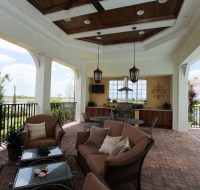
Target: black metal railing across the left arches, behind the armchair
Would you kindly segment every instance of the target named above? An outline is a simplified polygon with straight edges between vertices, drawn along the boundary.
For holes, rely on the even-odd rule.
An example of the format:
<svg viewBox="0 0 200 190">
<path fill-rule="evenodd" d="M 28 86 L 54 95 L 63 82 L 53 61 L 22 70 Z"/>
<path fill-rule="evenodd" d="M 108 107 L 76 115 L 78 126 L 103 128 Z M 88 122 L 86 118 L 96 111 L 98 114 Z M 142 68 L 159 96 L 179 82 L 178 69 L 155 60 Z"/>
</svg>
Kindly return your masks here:
<svg viewBox="0 0 200 190">
<path fill-rule="evenodd" d="M 3 142 L 7 131 L 18 130 L 24 126 L 28 117 L 36 114 L 37 103 L 0 104 L 0 142 Z M 74 121 L 76 102 L 51 103 L 51 109 L 63 108 L 67 116 L 66 122 Z"/>
</svg>

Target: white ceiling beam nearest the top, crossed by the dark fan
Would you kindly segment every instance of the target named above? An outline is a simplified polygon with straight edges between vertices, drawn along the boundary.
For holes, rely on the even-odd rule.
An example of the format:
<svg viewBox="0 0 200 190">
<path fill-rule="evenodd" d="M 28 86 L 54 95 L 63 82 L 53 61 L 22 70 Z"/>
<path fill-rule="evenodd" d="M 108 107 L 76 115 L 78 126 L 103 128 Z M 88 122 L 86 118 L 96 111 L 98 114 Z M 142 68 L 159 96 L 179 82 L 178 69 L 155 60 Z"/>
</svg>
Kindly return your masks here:
<svg viewBox="0 0 200 190">
<path fill-rule="evenodd" d="M 105 10 L 116 9 L 141 3 L 147 3 L 155 0 L 104 0 L 100 1 Z M 95 13 L 97 10 L 91 4 L 82 5 L 79 7 L 71 8 L 70 10 L 62 10 L 55 13 L 46 14 L 45 17 L 51 21 L 70 19 L 85 14 Z"/>
</svg>

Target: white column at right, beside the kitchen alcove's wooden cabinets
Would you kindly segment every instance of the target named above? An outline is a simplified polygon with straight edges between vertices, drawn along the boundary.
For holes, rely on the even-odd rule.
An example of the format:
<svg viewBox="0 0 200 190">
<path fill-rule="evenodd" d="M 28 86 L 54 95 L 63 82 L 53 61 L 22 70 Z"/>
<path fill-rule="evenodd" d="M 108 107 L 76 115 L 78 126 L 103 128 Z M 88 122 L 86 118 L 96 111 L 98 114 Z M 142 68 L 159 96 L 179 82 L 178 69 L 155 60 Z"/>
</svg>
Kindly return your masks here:
<svg viewBox="0 0 200 190">
<path fill-rule="evenodd" d="M 174 67 L 172 129 L 180 132 L 188 131 L 188 72 L 187 64 Z"/>
</svg>

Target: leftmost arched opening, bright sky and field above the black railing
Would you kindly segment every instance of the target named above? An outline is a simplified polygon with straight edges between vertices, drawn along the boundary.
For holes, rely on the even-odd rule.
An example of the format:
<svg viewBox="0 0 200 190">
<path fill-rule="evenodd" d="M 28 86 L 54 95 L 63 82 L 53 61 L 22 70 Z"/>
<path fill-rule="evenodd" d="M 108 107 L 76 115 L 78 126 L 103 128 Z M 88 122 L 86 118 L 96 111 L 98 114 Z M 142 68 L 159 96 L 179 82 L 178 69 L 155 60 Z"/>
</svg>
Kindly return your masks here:
<svg viewBox="0 0 200 190">
<path fill-rule="evenodd" d="M 0 39 L 0 71 L 8 74 L 11 81 L 5 86 L 5 103 L 35 102 L 36 68 L 30 53 L 13 43 Z"/>
</svg>

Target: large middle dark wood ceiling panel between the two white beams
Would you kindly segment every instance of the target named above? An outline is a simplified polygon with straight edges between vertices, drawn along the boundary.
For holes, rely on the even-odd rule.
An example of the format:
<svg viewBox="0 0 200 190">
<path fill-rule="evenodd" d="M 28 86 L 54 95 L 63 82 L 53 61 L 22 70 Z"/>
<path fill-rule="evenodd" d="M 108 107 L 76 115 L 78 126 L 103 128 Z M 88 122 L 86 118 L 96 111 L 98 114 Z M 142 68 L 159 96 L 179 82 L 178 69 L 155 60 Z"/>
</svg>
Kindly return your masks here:
<svg viewBox="0 0 200 190">
<path fill-rule="evenodd" d="M 156 1 L 134 5 L 129 7 L 108 10 L 102 13 L 92 13 L 78 16 L 69 22 L 56 21 L 57 26 L 62 26 L 67 34 L 92 31 L 94 28 L 105 29 L 111 27 L 139 24 L 158 20 L 167 20 L 176 18 L 177 9 L 183 0 L 171 0 L 165 4 L 158 4 Z M 137 11 L 144 10 L 144 14 L 137 15 Z M 153 11 L 152 11 L 153 10 Z M 90 24 L 84 24 L 84 20 L 89 20 Z"/>
</svg>

